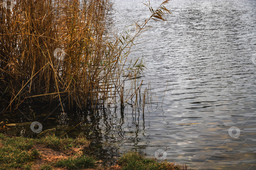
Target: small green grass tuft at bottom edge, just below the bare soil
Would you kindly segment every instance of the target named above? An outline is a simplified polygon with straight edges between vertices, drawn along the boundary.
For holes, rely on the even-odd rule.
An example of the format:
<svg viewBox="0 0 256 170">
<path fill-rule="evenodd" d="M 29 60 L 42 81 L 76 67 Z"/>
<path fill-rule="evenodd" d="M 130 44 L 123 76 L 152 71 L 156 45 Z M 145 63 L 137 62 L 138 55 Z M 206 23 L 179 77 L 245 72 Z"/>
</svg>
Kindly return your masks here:
<svg viewBox="0 0 256 170">
<path fill-rule="evenodd" d="M 95 160 L 91 156 L 81 156 L 79 158 L 68 158 L 65 160 L 58 161 L 55 166 L 56 167 L 66 167 L 68 169 L 75 168 L 88 168 L 95 167 Z"/>
</svg>

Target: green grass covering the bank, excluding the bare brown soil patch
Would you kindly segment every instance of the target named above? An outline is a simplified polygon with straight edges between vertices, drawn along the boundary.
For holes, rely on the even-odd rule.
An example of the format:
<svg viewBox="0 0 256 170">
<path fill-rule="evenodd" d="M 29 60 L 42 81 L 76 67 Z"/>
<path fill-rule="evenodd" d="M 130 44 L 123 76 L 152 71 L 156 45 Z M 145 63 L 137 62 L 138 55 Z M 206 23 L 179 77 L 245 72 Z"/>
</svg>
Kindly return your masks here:
<svg viewBox="0 0 256 170">
<path fill-rule="evenodd" d="M 45 165 L 40 167 L 41 170 L 52 170 L 54 167 L 63 167 L 67 169 L 95 167 L 97 169 L 96 160 L 92 156 L 80 155 L 76 157 L 76 152 L 74 150 L 70 149 L 69 151 L 64 151 L 69 147 L 81 147 L 88 145 L 89 141 L 85 138 L 62 139 L 48 136 L 40 139 L 26 139 L 22 137 L 11 138 L 0 133 L 0 170 L 33 169 L 33 164 L 35 163 L 34 160 L 40 155 L 40 152 L 34 149 L 34 144 L 46 145 L 53 148 L 53 150 L 60 150 L 68 153 L 66 158 L 51 162 L 52 166 L 49 165 L 50 162 L 46 162 Z M 128 152 L 123 155 L 119 158 L 117 164 L 122 167 L 122 170 L 187 169 L 186 166 L 175 165 L 174 163 L 167 161 L 157 162 L 154 159 L 145 159 L 136 152 Z M 107 167 L 105 169 L 107 169 Z"/>
</svg>

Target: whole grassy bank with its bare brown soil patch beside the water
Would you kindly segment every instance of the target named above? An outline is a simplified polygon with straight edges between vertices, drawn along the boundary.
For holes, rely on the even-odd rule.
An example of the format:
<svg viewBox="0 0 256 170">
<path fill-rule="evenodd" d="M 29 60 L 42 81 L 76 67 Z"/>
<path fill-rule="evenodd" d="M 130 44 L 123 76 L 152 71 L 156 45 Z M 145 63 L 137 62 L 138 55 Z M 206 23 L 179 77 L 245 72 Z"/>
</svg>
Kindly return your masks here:
<svg viewBox="0 0 256 170">
<path fill-rule="evenodd" d="M 70 139 L 43 137 L 29 139 L 0 134 L 0 169 L 187 169 L 167 161 L 145 159 L 136 152 L 128 152 L 116 165 L 108 167 L 101 160 L 85 154 L 89 141 L 84 138 Z"/>
</svg>

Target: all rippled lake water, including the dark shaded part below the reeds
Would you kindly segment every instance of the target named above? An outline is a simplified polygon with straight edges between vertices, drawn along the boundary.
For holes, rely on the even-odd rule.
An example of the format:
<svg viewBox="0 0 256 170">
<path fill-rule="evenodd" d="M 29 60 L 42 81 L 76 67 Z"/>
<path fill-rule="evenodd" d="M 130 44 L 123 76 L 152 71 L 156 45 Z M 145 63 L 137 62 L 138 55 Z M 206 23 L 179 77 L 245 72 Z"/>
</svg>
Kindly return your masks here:
<svg viewBox="0 0 256 170">
<path fill-rule="evenodd" d="M 142 0 L 111 2 L 111 30 L 151 14 Z M 150 2 L 153 9 L 160 3 Z M 8 119 L 82 133 L 92 146 L 103 146 L 94 153 L 107 161 L 128 150 L 152 158 L 165 150 L 160 158 L 192 169 L 256 169 L 256 1 L 173 0 L 165 6 L 172 12 L 168 22 L 149 21 L 152 28 L 129 56 L 145 56 L 147 70 L 138 81 L 144 80 L 142 89 L 150 81 L 152 99 L 144 114 L 128 101 L 124 110 L 64 110 L 61 116 L 61 107 L 29 106 Z M 9 134 L 27 132 L 29 126 L 17 126 Z"/>
</svg>

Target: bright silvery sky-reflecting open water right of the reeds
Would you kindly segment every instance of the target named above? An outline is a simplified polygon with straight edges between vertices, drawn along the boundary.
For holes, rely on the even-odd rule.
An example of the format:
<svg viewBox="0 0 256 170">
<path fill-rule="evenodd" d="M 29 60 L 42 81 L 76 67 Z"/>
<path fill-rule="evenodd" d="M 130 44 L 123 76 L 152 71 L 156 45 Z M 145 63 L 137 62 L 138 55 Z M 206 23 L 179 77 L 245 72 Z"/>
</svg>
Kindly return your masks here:
<svg viewBox="0 0 256 170">
<path fill-rule="evenodd" d="M 113 2 L 110 20 L 119 28 L 125 18 L 131 23 L 150 15 L 139 1 Z M 152 1 L 153 8 L 159 2 Z M 150 156 L 170 146 L 167 159 L 191 168 L 248 169 L 256 152 L 255 2 L 174 0 L 166 7 L 173 12 L 168 23 L 149 22 L 153 28 L 139 40 L 145 43 L 130 55 L 147 57 L 143 80 L 153 93 L 144 130 L 125 122 L 129 131 L 141 133 L 136 146 L 148 146 Z M 131 115 L 131 109 L 125 112 Z M 241 130 L 239 140 L 229 136 L 232 126 Z"/>
</svg>

